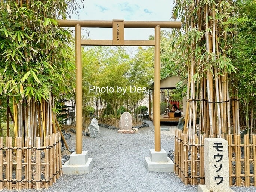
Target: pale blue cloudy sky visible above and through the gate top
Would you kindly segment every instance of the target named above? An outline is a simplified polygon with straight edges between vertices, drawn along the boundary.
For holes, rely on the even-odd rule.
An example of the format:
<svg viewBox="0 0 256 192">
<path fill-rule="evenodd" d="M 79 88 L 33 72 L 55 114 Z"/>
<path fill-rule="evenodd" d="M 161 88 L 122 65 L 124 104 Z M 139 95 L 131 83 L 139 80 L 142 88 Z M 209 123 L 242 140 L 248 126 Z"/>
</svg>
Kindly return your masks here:
<svg viewBox="0 0 256 192">
<path fill-rule="evenodd" d="M 173 0 L 84 0 L 83 4 L 80 20 L 171 21 L 173 8 Z M 78 16 L 72 15 L 70 19 Z M 90 39 L 112 40 L 112 28 L 83 30 L 89 31 Z M 154 35 L 154 29 L 126 28 L 124 40 L 148 40 L 149 35 Z"/>
</svg>

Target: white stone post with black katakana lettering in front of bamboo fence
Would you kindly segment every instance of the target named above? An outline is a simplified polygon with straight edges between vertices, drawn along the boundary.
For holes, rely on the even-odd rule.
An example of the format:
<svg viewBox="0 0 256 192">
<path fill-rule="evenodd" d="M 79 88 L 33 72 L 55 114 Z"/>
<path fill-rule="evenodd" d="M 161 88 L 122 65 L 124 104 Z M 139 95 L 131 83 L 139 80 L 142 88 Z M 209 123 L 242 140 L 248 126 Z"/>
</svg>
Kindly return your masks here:
<svg viewBox="0 0 256 192">
<path fill-rule="evenodd" d="M 205 185 L 198 192 L 229 192 L 228 142 L 222 138 L 204 139 Z"/>
</svg>

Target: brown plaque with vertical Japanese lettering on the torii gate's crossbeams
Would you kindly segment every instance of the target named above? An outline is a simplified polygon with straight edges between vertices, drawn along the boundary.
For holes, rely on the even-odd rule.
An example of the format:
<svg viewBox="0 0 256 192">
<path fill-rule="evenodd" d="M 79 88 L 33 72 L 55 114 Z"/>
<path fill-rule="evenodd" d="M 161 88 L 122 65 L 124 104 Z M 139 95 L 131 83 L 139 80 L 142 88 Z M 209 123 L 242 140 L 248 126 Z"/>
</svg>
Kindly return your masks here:
<svg viewBox="0 0 256 192">
<path fill-rule="evenodd" d="M 124 20 L 113 20 L 113 45 L 124 45 Z"/>
</svg>

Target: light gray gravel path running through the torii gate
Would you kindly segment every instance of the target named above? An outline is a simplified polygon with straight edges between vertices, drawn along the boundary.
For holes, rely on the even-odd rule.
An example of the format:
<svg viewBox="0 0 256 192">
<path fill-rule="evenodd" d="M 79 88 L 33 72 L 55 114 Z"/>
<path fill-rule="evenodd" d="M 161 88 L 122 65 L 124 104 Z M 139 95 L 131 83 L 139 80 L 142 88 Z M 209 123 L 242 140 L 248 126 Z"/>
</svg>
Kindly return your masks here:
<svg viewBox="0 0 256 192">
<path fill-rule="evenodd" d="M 185 186 L 174 173 L 148 172 L 144 157 L 154 149 L 154 126 L 139 129 L 136 134 L 118 134 L 117 130 L 100 128 L 100 138 L 83 136 L 83 151 L 93 158 L 89 174 L 64 175 L 47 192 L 197 192 L 197 186 Z M 177 124 L 161 124 L 170 131 L 161 131 L 161 148 L 168 153 L 174 149 L 174 130 Z M 75 134 L 67 140 L 75 149 Z M 256 192 L 255 187 L 232 187 L 236 192 Z M 3 190 L 7 191 L 7 190 Z M 12 190 L 15 191 L 15 190 Z M 27 190 L 21 190 L 27 191 Z M 37 190 L 30 190 L 37 191 Z"/>
</svg>

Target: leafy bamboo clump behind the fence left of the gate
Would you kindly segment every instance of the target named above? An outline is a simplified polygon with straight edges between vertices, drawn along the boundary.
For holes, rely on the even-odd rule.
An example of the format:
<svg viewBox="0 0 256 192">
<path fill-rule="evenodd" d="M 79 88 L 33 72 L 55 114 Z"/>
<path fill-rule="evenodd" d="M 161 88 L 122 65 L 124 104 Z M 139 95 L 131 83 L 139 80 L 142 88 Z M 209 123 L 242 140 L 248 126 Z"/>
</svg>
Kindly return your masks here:
<svg viewBox="0 0 256 192">
<path fill-rule="evenodd" d="M 13 103 L 7 118 L 13 116 L 15 137 L 43 143 L 57 131 L 55 101 L 72 97 L 75 87 L 72 31 L 55 27 L 55 19 L 66 19 L 79 4 L 8 0 L 0 6 L 1 100 L 9 109 Z"/>
</svg>

